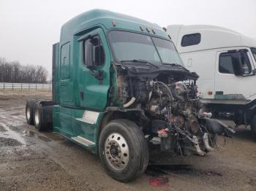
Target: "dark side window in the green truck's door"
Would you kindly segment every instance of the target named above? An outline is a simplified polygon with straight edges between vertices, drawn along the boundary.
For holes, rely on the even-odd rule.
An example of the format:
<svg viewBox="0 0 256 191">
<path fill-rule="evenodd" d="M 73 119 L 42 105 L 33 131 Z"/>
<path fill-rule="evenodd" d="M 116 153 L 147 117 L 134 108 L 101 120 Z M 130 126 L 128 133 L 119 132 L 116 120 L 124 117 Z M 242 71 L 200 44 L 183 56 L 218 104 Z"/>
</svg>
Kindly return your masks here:
<svg viewBox="0 0 256 191">
<path fill-rule="evenodd" d="M 94 66 L 102 66 L 105 63 L 105 52 L 99 36 L 93 36 L 83 42 L 83 63 L 86 64 L 86 52 L 92 45 L 92 62 Z"/>
</svg>

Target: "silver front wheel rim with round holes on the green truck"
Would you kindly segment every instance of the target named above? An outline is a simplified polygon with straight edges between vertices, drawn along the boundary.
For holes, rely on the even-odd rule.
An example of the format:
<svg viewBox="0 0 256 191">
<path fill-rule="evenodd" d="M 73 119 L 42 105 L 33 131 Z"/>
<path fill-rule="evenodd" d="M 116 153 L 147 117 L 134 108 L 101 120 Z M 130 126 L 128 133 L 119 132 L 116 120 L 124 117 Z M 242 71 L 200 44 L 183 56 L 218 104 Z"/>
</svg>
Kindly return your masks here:
<svg viewBox="0 0 256 191">
<path fill-rule="evenodd" d="M 119 133 L 110 133 L 105 141 L 105 156 L 108 163 L 116 170 L 123 170 L 129 162 L 127 141 Z"/>
</svg>

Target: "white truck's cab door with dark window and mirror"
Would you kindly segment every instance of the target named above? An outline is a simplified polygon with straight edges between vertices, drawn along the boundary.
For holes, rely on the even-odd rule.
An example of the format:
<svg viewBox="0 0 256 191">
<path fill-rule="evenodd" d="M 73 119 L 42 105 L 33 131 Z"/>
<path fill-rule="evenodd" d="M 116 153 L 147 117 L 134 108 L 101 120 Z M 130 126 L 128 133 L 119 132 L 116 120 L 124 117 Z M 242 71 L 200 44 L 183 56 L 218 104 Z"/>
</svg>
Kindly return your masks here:
<svg viewBox="0 0 256 191">
<path fill-rule="evenodd" d="M 217 52 L 216 61 L 214 98 L 243 100 L 256 93 L 255 67 L 248 50 Z"/>
</svg>

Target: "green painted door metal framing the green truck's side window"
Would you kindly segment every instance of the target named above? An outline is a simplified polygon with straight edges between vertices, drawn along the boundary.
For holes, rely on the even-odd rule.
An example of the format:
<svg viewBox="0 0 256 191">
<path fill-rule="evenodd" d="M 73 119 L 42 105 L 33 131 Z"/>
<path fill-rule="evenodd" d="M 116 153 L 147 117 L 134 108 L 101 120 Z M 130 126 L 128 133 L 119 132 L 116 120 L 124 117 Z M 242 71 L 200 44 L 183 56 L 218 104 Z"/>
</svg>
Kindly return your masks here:
<svg viewBox="0 0 256 191">
<path fill-rule="evenodd" d="M 100 37 L 105 52 L 105 63 L 102 66 L 94 67 L 94 71 L 103 71 L 103 79 L 96 79 L 86 67 L 83 61 L 83 53 L 81 53 L 78 66 L 78 88 L 79 93 L 83 93 L 83 98 L 80 97 L 80 106 L 86 109 L 103 111 L 108 104 L 108 90 L 110 87 L 110 49 L 102 28 L 96 28 L 84 35 Z M 83 52 L 83 42 L 79 42 L 78 45 L 80 46 L 79 52 Z"/>
</svg>

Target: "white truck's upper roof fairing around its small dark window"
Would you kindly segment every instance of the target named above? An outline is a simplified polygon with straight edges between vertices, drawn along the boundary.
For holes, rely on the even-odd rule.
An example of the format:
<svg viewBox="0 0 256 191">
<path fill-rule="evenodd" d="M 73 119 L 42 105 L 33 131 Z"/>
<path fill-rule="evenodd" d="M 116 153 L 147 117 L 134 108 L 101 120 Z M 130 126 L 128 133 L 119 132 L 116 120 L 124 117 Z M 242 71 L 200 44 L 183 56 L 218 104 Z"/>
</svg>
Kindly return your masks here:
<svg viewBox="0 0 256 191">
<path fill-rule="evenodd" d="M 201 42 L 196 45 L 181 47 L 182 36 L 195 33 L 201 34 Z M 219 26 L 167 26 L 167 34 L 170 34 L 180 53 L 221 47 L 256 47 L 256 39 Z"/>
</svg>

